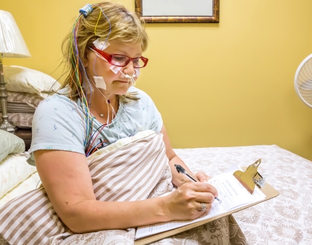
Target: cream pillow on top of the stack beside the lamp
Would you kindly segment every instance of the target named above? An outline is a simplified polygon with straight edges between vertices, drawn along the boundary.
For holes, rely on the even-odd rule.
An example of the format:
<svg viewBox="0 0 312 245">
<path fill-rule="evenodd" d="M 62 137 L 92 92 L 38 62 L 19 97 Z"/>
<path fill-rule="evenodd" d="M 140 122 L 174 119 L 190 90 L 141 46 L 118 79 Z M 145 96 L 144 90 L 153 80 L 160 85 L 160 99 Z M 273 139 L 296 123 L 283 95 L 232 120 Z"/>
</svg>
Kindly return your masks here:
<svg viewBox="0 0 312 245">
<path fill-rule="evenodd" d="M 3 66 L 3 73 L 8 91 L 42 95 L 42 92 L 49 92 L 51 88 L 56 90 L 60 86 L 52 76 L 18 65 Z"/>
</svg>

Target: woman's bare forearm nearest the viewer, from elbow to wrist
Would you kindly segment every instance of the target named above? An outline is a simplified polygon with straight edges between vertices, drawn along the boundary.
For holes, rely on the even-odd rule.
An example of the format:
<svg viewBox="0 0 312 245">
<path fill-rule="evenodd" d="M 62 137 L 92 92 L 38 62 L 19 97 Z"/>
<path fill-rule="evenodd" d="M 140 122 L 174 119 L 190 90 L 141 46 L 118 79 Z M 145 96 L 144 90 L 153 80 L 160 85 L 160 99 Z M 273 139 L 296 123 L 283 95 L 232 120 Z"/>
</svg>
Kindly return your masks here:
<svg viewBox="0 0 312 245">
<path fill-rule="evenodd" d="M 164 197 L 140 201 L 103 202 L 84 200 L 67 208 L 63 222 L 75 233 L 107 229 L 125 229 L 169 221 Z M 70 205 L 70 202 L 67 203 Z"/>
</svg>

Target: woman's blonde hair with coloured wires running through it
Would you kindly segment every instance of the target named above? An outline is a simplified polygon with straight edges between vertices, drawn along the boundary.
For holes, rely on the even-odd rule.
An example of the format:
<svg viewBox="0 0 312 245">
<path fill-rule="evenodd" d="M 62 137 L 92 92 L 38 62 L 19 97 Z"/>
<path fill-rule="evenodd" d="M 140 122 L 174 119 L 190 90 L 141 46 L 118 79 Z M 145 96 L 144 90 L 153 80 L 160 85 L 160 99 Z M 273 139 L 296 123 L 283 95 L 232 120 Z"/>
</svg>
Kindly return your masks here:
<svg viewBox="0 0 312 245">
<path fill-rule="evenodd" d="M 68 74 L 61 88 L 70 86 L 70 97 L 75 100 L 82 97 L 80 94 L 82 90 L 79 87 L 85 88 L 89 85 L 83 84 L 87 79 L 83 63 L 86 60 L 88 48 L 93 46 L 93 41 L 100 38 L 107 41 L 117 39 L 131 44 L 141 42 L 142 51 L 146 50 L 148 44 L 144 20 L 136 13 L 113 1 L 95 3 L 92 4 L 92 8 L 93 11 L 86 17 L 79 15 L 73 31 L 65 37 L 62 43 Z M 139 99 L 135 93 L 129 92 L 118 97 L 123 102 Z"/>
</svg>

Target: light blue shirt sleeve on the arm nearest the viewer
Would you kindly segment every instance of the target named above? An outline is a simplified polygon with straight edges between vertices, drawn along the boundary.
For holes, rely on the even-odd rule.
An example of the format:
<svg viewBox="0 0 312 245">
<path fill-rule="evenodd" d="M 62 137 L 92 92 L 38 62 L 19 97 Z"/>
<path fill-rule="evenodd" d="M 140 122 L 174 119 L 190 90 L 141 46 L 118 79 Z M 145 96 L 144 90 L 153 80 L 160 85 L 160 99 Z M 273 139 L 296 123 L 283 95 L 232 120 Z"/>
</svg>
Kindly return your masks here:
<svg viewBox="0 0 312 245">
<path fill-rule="evenodd" d="M 34 165 L 33 151 L 54 149 L 84 154 L 84 118 L 77 104 L 52 96 L 43 100 L 33 116 L 28 163 Z"/>
</svg>

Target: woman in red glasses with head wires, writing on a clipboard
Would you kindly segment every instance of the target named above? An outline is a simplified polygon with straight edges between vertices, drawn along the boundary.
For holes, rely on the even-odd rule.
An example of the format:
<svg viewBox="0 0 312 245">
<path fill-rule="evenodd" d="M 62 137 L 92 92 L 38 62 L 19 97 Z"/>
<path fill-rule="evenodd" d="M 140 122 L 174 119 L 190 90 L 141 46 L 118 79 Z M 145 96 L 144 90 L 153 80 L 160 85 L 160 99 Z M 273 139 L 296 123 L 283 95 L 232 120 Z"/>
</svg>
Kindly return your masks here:
<svg viewBox="0 0 312 245">
<path fill-rule="evenodd" d="M 57 216 L 70 229 L 62 230 L 68 232 L 63 233 L 63 238 L 73 233 L 194 219 L 209 210 L 218 196 L 215 187 L 205 182 L 209 178 L 205 173 L 196 173 L 199 182 L 189 182 L 178 173 L 175 164 L 191 171 L 173 151 L 152 99 L 133 87 L 140 68 L 148 62 L 142 56 L 147 42 L 142 20 L 110 1 L 80 9 L 72 33 L 64 42 L 67 78 L 62 89 L 36 109 L 28 159 L 36 165 Z M 167 174 L 164 192 L 172 190 L 172 183 L 177 190 L 155 198 L 99 200 L 88 159 L 101 148 L 145 130 L 162 136 L 159 151 L 163 147 L 169 159 L 163 163 L 157 181 Z M 146 172 L 149 178 L 156 174 L 153 167 L 157 165 L 151 165 Z M 151 195 L 152 188 L 147 191 L 147 197 L 157 196 Z M 224 229 L 222 236 L 228 235 L 228 227 Z"/>
</svg>

